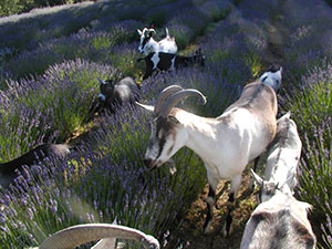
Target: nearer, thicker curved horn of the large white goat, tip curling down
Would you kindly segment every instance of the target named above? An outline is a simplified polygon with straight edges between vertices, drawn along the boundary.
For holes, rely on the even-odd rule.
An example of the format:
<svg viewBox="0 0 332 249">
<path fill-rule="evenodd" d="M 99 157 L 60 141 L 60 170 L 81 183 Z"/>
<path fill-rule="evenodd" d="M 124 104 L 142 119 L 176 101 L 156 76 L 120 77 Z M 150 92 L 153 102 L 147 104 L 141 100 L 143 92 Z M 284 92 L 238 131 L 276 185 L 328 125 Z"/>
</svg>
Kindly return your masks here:
<svg viewBox="0 0 332 249">
<path fill-rule="evenodd" d="M 181 91 L 176 92 L 173 95 L 170 95 L 167 98 L 167 101 L 163 104 L 159 115 L 166 117 L 169 114 L 170 110 L 178 102 L 180 102 L 183 98 L 185 98 L 187 96 L 198 96 L 203 100 L 203 102 L 204 102 L 203 104 L 206 104 L 206 97 L 199 91 L 197 91 L 195 89 L 186 89 L 186 90 L 181 90 Z"/>
</svg>

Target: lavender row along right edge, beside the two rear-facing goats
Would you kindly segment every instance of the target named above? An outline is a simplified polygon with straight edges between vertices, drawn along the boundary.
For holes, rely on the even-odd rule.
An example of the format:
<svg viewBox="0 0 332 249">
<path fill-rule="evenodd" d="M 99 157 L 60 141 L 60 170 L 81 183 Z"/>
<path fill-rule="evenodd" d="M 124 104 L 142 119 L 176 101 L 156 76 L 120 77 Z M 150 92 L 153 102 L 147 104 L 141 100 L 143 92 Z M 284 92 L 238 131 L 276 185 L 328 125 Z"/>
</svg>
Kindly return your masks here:
<svg viewBox="0 0 332 249">
<path fill-rule="evenodd" d="M 295 90 L 290 91 L 281 100 L 282 107 L 291 111 L 302 138 L 303 152 L 298 195 L 314 207 L 313 220 L 322 228 L 318 234 L 321 248 L 332 246 L 331 235 L 329 235 L 331 230 L 329 220 L 332 217 L 331 71 L 331 62 L 326 61 L 324 66 L 310 70 L 305 76 L 302 76 L 300 86 L 295 86 Z"/>
</svg>

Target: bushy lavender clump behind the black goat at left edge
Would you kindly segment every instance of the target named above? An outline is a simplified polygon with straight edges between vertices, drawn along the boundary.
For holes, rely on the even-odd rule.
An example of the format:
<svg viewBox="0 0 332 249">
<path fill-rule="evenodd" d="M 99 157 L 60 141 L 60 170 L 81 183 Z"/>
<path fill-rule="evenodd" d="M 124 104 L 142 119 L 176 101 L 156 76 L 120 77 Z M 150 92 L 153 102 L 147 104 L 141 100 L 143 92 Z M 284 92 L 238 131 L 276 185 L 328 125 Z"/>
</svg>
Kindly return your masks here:
<svg viewBox="0 0 332 249">
<path fill-rule="evenodd" d="M 1 92 L 2 160 L 41 142 L 69 138 L 92 116 L 96 79 L 117 76 L 112 66 L 76 60 L 51 66 L 41 77 L 11 82 L 10 89 Z"/>
</svg>

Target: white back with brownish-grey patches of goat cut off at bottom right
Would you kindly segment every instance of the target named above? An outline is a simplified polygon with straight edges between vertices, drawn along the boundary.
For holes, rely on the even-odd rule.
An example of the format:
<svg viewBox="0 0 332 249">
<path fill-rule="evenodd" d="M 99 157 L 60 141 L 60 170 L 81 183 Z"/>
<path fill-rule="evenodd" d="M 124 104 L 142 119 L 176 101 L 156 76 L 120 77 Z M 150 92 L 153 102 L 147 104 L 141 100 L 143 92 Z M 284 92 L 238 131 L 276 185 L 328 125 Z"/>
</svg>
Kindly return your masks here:
<svg viewBox="0 0 332 249">
<path fill-rule="evenodd" d="M 309 204 L 277 190 L 251 214 L 240 248 L 315 248 L 317 239 L 307 217 L 310 208 Z"/>
</svg>

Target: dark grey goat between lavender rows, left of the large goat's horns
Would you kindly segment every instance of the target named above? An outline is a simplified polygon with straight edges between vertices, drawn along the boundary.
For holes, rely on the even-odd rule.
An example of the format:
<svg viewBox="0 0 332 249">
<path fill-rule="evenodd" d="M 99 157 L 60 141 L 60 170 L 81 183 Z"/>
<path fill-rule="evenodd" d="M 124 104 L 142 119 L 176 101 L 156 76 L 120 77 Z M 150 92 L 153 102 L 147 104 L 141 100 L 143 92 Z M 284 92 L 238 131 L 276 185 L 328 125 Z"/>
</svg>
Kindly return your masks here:
<svg viewBox="0 0 332 249">
<path fill-rule="evenodd" d="M 141 86 L 133 77 L 124 77 L 117 83 L 111 80 L 98 81 L 101 91 L 98 94 L 98 103 L 111 113 L 115 113 L 115 110 L 124 103 L 134 104 L 139 98 Z"/>
</svg>

